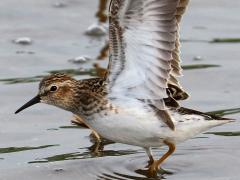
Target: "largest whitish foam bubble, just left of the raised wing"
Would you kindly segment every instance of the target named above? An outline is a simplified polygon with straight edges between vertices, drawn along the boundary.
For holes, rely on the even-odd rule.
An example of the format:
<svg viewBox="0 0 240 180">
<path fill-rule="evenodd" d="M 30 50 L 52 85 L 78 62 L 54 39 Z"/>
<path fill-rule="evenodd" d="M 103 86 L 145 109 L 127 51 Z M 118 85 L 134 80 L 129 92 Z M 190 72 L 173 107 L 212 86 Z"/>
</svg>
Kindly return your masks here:
<svg viewBox="0 0 240 180">
<path fill-rule="evenodd" d="M 89 36 L 104 36 L 107 34 L 107 27 L 103 23 L 95 23 L 88 27 L 86 34 Z"/>
</svg>

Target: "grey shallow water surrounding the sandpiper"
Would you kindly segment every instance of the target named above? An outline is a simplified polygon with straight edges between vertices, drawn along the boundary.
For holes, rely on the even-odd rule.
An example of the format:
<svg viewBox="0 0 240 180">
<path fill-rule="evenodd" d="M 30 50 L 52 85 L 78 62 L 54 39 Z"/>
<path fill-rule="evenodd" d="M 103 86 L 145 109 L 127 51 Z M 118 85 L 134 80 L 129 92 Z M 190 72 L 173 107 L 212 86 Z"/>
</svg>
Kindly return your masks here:
<svg viewBox="0 0 240 180">
<path fill-rule="evenodd" d="M 43 76 L 60 71 L 88 78 L 104 73 L 107 65 L 107 60 L 79 65 L 68 61 L 81 55 L 94 59 L 104 47 L 105 37 L 84 34 L 96 21 L 95 1 L 17 3 L 0 3 L 0 179 L 150 179 L 141 148 L 96 144 L 89 130 L 71 125 L 71 113 L 40 104 L 13 114 L 35 95 Z M 191 2 L 181 32 L 182 85 L 191 94 L 184 106 L 239 119 L 239 5 L 234 0 Z M 30 37 L 32 43 L 13 43 L 18 37 Z M 201 60 L 195 61 L 196 56 Z M 163 164 L 172 174 L 156 179 L 239 179 L 239 127 L 236 121 L 179 144 Z M 154 149 L 154 155 L 165 151 Z"/>
</svg>

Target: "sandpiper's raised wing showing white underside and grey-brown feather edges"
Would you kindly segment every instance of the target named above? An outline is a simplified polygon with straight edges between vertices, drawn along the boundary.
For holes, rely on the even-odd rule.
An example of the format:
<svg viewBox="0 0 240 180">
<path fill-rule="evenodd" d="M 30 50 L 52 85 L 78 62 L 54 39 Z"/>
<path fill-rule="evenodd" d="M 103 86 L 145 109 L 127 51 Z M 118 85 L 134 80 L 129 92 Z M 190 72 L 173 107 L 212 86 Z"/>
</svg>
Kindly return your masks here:
<svg viewBox="0 0 240 180">
<path fill-rule="evenodd" d="M 143 99 L 164 109 L 168 83 L 180 87 L 178 23 L 187 2 L 111 1 L 110 95 Z"/>
</svg>

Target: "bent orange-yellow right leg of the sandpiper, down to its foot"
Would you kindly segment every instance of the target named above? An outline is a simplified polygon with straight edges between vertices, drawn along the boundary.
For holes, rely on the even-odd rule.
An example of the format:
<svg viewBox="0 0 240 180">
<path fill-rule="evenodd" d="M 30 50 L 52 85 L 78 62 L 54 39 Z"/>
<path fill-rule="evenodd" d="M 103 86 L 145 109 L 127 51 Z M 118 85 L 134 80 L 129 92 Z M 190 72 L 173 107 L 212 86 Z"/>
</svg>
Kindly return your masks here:
<svg viewBox="0 0 240 180">
<path fill-rule="evenodd" d="M 157 175 L 157 171 L 160 168 L 160 165 L 170 156 L 174 153 L 176 147 L 175 144 L 164 141 L 164 144 L 168 146 L 168 152 L 166 152 L 158 161 L 154 161 L 152 165 L 148 169 L 149 176 L 154 177 Z"/>
</svg>

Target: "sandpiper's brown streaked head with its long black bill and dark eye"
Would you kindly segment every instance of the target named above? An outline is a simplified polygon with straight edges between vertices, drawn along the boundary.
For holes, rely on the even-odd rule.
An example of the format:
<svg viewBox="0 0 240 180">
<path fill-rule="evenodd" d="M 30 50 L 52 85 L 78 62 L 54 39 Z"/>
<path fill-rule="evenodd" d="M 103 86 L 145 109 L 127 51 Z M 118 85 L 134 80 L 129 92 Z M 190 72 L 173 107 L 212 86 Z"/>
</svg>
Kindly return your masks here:
<svg viewBox="0 0 240 180">
<path fill-rule="evenodd" d="M 19 108 L 15 113 L 37 103 L 46 103 L 68 111 L 74 111 L 74 97 L 78 81 L 65 74 L 54 74 L 43 78 L 38 94 Z"/>
</svg>

